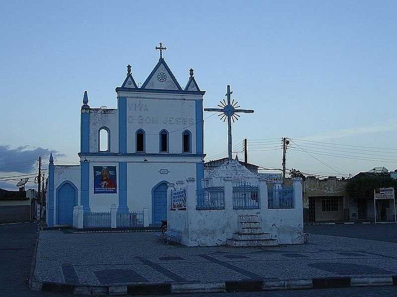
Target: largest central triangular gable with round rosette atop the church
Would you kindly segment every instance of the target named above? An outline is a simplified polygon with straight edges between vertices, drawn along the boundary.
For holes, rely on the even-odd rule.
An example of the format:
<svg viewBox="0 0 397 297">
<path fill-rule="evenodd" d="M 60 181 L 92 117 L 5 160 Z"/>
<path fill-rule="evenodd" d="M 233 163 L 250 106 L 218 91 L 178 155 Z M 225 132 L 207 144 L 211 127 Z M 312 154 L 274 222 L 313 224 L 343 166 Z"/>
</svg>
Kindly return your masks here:
<svg viewBox="0 0 397 297">
<path fill-rule="evenodd" d="M 141 89 L 182 91 L 181 86 L 163 58 L 158 60 L 157 65 L 149 74 Z"/>
</svg>

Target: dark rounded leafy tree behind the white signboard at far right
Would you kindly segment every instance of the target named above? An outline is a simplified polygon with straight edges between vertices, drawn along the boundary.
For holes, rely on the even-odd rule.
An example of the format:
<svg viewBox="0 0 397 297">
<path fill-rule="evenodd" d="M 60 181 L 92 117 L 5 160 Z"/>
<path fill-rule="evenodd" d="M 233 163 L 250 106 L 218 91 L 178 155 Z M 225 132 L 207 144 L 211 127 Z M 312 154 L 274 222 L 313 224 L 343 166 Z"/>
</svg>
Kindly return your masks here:
<svg viewBox="0 0 397 297">
<path fill-rule="evenodd" d="M 375 188 L 397 188 L 397 180 L 389 173 L 362 172 L 351 178 L 346 185 L 346 194 L 355 198 L 373 198 Z"/>
</svg>

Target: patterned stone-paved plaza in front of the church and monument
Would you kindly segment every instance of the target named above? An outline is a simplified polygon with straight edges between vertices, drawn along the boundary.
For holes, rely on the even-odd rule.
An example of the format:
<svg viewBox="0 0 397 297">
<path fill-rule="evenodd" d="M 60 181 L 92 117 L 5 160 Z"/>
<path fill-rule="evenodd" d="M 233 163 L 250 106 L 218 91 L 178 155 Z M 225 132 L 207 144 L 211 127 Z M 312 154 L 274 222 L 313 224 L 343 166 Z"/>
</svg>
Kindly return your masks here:
<svg viewBox="0 0 397 297">
<path fill-rule="evenodd" d="M 158 233 L 42 231 L 35 274 L 73 285 L 397 274 L 397 244 L 313 234 L 306 245 L 185 247 Z"/>
</svg>

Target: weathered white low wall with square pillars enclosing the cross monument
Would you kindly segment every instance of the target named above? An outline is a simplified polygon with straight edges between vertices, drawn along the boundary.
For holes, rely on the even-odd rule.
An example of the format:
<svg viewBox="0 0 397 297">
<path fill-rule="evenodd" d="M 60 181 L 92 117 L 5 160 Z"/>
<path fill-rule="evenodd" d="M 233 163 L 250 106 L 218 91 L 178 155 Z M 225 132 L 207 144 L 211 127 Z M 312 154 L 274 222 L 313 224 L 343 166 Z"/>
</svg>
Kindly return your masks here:
<svg viewBox="0 0 397 297">
<path fill-rule="evenodd" d="M 238 231 L 238 216 L 257 214 L 263 232 L 277 238 L 279 244 L 303 243 L 302 184 L 294 183 L 294 209 L 267 209 L 265 181 L 259 185 L 260 209 L 233 209 L 231 179 L 225 180 L 225 209 L 196 210 L 195 193 L 188 191 L 187 210 L 171 211 L 168 207 L 168 228 L 180 232 L 181 243 L 187 246 L 225 245 Z M 169 197 L 170 199 L 170 197 Z M 170 201 L 169 201 L 170 203 Z"/>
</svg>

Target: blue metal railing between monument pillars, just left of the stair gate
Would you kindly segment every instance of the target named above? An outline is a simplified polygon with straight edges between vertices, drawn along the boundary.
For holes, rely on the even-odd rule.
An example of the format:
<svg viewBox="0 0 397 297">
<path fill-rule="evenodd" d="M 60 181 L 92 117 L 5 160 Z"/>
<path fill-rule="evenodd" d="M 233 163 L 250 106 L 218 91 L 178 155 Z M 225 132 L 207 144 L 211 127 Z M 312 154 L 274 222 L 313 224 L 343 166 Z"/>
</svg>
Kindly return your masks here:
<svg viewBox="0 0 397 297">
<path fill-rule="evenodd" d="M 196 191 L 196 210 L 225 209 L 224 187 L 209 187 Z"/>
</svg>

